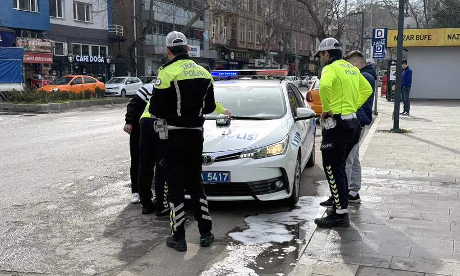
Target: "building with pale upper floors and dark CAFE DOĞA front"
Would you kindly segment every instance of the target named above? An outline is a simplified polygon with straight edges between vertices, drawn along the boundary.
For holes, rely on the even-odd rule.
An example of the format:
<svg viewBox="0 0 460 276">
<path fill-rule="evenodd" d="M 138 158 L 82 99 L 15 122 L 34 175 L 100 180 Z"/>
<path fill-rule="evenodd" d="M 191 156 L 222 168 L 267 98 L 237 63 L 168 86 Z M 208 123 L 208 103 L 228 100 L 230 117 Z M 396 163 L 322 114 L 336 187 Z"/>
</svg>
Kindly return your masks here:
<svg viewBox="0 0 460 276">
<path fill-rule="evenodd" d="M 111 0 L 49 0 L 49 5 L 54 77 L 91 75 L 106 82 L 127 74 L 126 60 L 113 49 L 125 38 L 123 26 L 112 22 Z"/>
</svg>

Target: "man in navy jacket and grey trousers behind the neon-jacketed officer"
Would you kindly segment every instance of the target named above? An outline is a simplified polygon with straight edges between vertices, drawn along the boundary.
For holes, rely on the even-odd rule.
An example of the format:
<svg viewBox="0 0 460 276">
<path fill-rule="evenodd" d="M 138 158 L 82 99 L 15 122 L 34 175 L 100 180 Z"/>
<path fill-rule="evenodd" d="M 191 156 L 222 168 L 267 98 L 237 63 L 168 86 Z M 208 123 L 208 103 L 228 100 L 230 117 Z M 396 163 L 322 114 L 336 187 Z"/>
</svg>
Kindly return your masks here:
<svg viewBox="0 0 460 276">
<path fill-rule="evenodd" d="M 359 197 L 359 190 L 361 190 L 361 162 L 359 161 L 359 142 L 365 132 L 365 127 L 369 126 L 372 122 L 372 105 L 374 103 L 375 81 L 377 80 L 377 73 L 375 72 L 374 65 L 366 65 L 364 55 L 360 51 L 352 51 L 346 56 L 346 60 L 353 66 L 357 67 L 362 76 L 369 82 L 372 87 L 372 95 L 367 98 L 364 104 L 356 111 L 359 123 L 361 124 L 361 134 L 359 136 L 358 144 L 356 144 L 350 151 L 346 162 L 346 171 L 348 177 L 348 187 L 350 193 L 348 201 L 353 203 L 361 202 Z"/>
</svg>

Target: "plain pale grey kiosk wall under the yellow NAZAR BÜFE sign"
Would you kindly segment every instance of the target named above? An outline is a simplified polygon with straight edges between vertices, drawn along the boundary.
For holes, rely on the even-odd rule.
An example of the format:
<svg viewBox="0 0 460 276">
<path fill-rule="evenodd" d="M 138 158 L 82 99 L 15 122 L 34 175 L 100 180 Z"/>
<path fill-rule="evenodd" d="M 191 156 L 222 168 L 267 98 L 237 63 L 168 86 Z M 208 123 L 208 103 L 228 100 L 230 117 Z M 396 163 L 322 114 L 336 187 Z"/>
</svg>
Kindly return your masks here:
<svg viewBox="0 0 460 276">
<path fill-rule="evenodd" d="M 411 99 L 460 99 L 460 47 L 408 48 Z"/>
</svg>

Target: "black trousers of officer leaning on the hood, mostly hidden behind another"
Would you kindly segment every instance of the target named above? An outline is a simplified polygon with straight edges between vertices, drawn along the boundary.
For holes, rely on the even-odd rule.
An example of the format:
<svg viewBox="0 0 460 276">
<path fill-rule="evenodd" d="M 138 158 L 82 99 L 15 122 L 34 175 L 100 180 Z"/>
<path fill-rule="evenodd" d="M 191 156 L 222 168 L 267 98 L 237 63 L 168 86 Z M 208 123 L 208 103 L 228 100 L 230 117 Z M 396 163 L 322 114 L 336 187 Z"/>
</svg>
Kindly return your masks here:
<svg viewBox="0 0 460 276">
<path fill-rule="evenodd" d="M 155 119 L 151 118 L 143 118 L 141 120 L 139 195 L 141 197 L 141 204 L 145 209 L 155 209 L 161 212 L 169 209 L 165 170 L 158 164 L 163 156 L 165 142 L 160 140 L 158 133 L 155 132 L 153 128 L 154 122 Z M 153 177 L 155 177 L 156 206 L 152 203 L 151 186 Z"/>
</svg>

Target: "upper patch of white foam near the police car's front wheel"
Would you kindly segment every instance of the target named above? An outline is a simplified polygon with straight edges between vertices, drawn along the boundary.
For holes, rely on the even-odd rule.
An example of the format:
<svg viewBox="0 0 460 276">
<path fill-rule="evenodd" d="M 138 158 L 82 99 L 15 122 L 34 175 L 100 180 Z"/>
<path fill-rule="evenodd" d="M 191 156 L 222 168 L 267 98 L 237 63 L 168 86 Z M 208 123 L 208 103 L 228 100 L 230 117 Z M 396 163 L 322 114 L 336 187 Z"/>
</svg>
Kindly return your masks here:
<svg viewBox="0 0 460 276">
<path fill-rule="evenodd" d="M 248 229 L 243 232 L 228 234 L 234 240 L 243 244 L 263 244 L 267 242 L 288 242 L 294 239 L 294 235 L 287 229 L 288 225 L 297 223 L 309 223 L 318 216 L 321 199 L 304 196 L 299 199 L 294 209 L 288 212 L 274 214 L 259 214 L 244 219 Z"/>
</svg>

